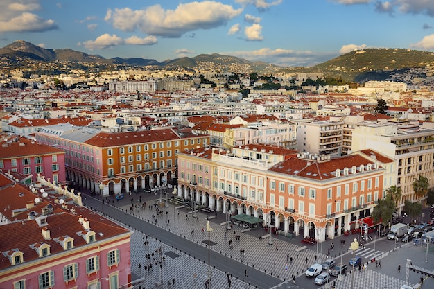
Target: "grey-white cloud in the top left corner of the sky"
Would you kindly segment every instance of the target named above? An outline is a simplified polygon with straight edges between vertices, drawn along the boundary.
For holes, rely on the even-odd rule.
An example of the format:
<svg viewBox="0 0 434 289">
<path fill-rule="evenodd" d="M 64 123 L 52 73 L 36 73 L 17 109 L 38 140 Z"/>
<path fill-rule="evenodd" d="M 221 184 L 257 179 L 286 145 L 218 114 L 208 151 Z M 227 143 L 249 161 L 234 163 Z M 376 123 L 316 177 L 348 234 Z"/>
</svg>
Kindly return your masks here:
<svg viewBox="0 0 434 289">
<path fill-rule="evenodd" d="M 35 14 L 40 10 L 38 0 L 1 0 L 0 33 L 8 32 L 43 32 L 58 28 L 51 19 L 44 19 Z"/>
</svg>

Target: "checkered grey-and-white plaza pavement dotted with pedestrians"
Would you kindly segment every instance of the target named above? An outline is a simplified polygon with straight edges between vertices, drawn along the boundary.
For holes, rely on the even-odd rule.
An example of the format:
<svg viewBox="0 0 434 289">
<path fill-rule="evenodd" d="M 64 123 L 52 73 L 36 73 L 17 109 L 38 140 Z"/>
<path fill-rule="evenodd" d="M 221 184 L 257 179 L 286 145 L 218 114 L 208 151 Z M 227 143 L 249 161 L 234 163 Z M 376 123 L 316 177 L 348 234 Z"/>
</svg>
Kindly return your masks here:
<svg viewBox="0 0 434 289">
<path fill-rule="evenodd" d="M 140 196 L 142 202 L 141 204 L 138 204 Z M 231 259 L 242 262 L 256 270 L 261 270 L 262 272 L 270 274 L 273 277 L 281 279 L 282 283 L 279 286 L 274 287 L 277 289 L 303 288 L 302 284 L 299 283 L 304 277 L 300 276 L 304 275 L 304 272 L 309 265 L 315 263 L 315 261 L 321 263 L 326 259 L 326 255 L 322 254 L 321 252 L 327 252 L 327 248 L 329 247 L 331 240 L 324 242 L 321 245 L 321 250 L 318 247 L 318 254 L 316 245 L 308 245 L 306 249 L 302 249 L 301 251 L 297 252 L 297 249 L 300 249 L 300 247 L 303 246 L 303 244 L 300 243 L 300 240 L 298 240 L 295 244 L 295 242 L 293 242 L 293 240 L 291 241 L 289 238 L 274 235 L 270 240 L 268 238 L 260 240 L 259 236 L 265 236 L 267 234 L 267 232 L 263 229 L 254 229 L 252 231 L 241 233 L 243 228 L 234 225 L 232 230 L 226 231 L 226 226 L 223 225 L 223 222 L 226 221 L 225 215 L 221 212 L 218 212 L 217 217 L 215 218 L 214 214 L 204 213 L 202 211 L 198 211 L 197 213 L 189 213 L 189 209 L 186 208 L 175 209 L 178 204 L 171 204 L 169 202 L 168 207 L 159 206 L 163 213 L 157 215 L 156 206 L 154 206 L 154 204 L 156 203 L 158 197 L 158 195 L 153 195 L 150 193 L 133 193 L 131 197 L 125 194 L 125 198 L 123 200 L 114 200 L 114 203 L 113 199 L 110 198 L 110 204 L 132 214 L 133 216 L 136 216 L 141 220 L 153 223 L 162 229 L 171 231 L 173 234 L 177 234 L 178 236 L 182 236 L 187 240 L 191 240 L 192 242 L 203 246 L 207 245 L 208 239 L 206 231 L 207 217 L 211 217 L 209 219 L 211 224 L 210 227 L 214 229 L 214 231 L 212 232 L 210 239 L 211 242 L 215 243 L 211 248 L 220 254 L 228 256 Z M 144 202 L 146 202 L 145 206 L 143 206 Z M 187 216 L 188 218 L 186 218 Z M 157 220 L 157 222 L 155 222 L 155 220 Z M 167 220 L 169 221 L 167 222 Z M 192 231 L 194 232 L 192 233 Z M 134 231 L 131 239 L 132 273 L 136 275 L 137 278 L 146 278 L 146 281 L 137 284 L 137 286 L 141 286 L 142 288 L 157 288 L 155 287 L 155 283 L 159 282 L 161 279 L 159 267 L 155 266 L 154 261 L 153 270 L 151 272 L 145 272 L 144 265 L 148 265 L 150 261 L 144 261 L 146 260 L 144 256 L 148 253 L 151 254 L 152 252 L 155 252 L 157 247 L 162 246 L 164 254 L 167 254 L 166 252 L 171 252 L 169 254 L 171 256 L 166 256 L 165 259 L 164 283 L 167 282 L 166 280 L 175 279 L 175 287 L 173 287 L 173 285 L 172 287 L 168 287 L 166 283 L 164 284 L 164 288 L 205 288 L 208 270 L 206 263 L 203 263 L 197 259 L 193 259 L 193 257 L 186 256 L 182 252 L 178 252 L 176 249 L 167 247 L 153 238 L 148 238 L 149 245 L 144 246 L 142 239 L 143 236 L 144 235 L 140 232 Z M 239 240 L 236 240 L 235 236 L 239 236 Z M 232 240 L 232 248 L 229 246 L 229 240 Z M 347 245 L 347 247 L 349 247 L 349 245 Z M 242 256 L 240 252 L 241 249 L 243 249 L 245 252 L 244 256 Z M 391 254 L 395 253 L 396 252 L 392 252 Z M 331 252 L 333 257 L 339 254 L 340 252 L 337 252 L 337 248 Z M 373 252 L 373 249 L 366 247 L 365 249 L 361 248 L 356 251 L 356 254 L 358 256 L 363 256 L 364 260 L 369 260 L 372 259 L 373 256 L 378 257 L 381 254 L 384 256 L 385 252 Z M 292 257 L 292 263 L 290 263 L 289 260 L 287 261 L 287 255 Z M 385 265 L 388 266 L 386 260 L 387 259 L 385 259 L 382 263 L 383 268 L 385 268 Z M 139 263 L 141 263 L 141 268 L 139 268 Z M 180 274 L 180 268 L 182 268 L 182 274 Z M 354 280 L 357 281 L 354 282 L 354 288 L 399 288 L 403 283 L 405 283 L 405 260 L 403 261 L 402 272 L 403 273 L 401 274 L 403 278 L 391 277 L 388 274 L 385 274 L 385 272 L 382 271 L 382 268 L 375 268 L 375 266 L 371 264 L 368 265 L 366 270 L 361 272 L 356 270 L 354 274 Z M 293 282 L 290 281 L 293 275 L 300 277 L 297 278 L 297 284 L 293 284 Z M 212 277 L 214 284 L 225 284 L 225 286 L 220 288 L 227 288 L 227 277 L 225 272 L 212 269 Z M 375 282 L 372 280 L 375 280 Z M 351 288 L 351 283 L 349 282 L 351 282 L 351 274 L 347 273 L 342 281 L 336 281 L 335 288 Z M 416 281 L 414 281 L 414 283 L 416 283 Z M 322 286 L 322 288 L 331 288 L 329 285 L 331 284 Z M 216 288 L 215 285 L 212 287 Z M 232 278 L 231 288 L 241 289 L 254 287 L 243 282 L 243 280 Z"/>
</svg>

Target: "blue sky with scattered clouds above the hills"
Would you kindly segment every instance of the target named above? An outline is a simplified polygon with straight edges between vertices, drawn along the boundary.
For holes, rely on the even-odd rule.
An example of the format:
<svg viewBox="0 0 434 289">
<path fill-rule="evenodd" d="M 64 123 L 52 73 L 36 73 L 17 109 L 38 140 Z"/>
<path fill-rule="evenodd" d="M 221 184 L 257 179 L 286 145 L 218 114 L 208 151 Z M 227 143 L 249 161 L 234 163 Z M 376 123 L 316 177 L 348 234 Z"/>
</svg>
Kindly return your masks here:
<svg viewBox="0 0 434 289">
<path fill-rule="evenodd" d="M 1 0 L 0 46 L 15 40 L 105 58 L 313 65 L 354 49 L 434 51 L 434 0 Z"/>
</svg>

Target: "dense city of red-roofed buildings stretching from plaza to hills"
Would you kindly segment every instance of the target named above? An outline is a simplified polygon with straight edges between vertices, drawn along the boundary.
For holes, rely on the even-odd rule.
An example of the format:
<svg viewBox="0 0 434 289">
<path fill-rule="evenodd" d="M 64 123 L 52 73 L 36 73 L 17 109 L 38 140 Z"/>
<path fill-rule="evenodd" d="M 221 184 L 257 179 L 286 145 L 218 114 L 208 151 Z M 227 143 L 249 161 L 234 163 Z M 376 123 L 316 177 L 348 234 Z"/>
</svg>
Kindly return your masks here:
<svg viewBox="0 0 434 289">
<path fill-rule="evenodd" d="M 82 192 L 109 204 L 155 193 L 318 243 L 384 231 L 392 213 L 431 206 L 430 67 L 356 87 L 313 85 L 321 73 L 187 72 L 3 73 L 0 280 L 8 288 L 109 288 L 107 280 L 132 288 L 132 232 L 86 207 Z M 375 208 L 388 198 L 385 220 Z"/>
</svg>

